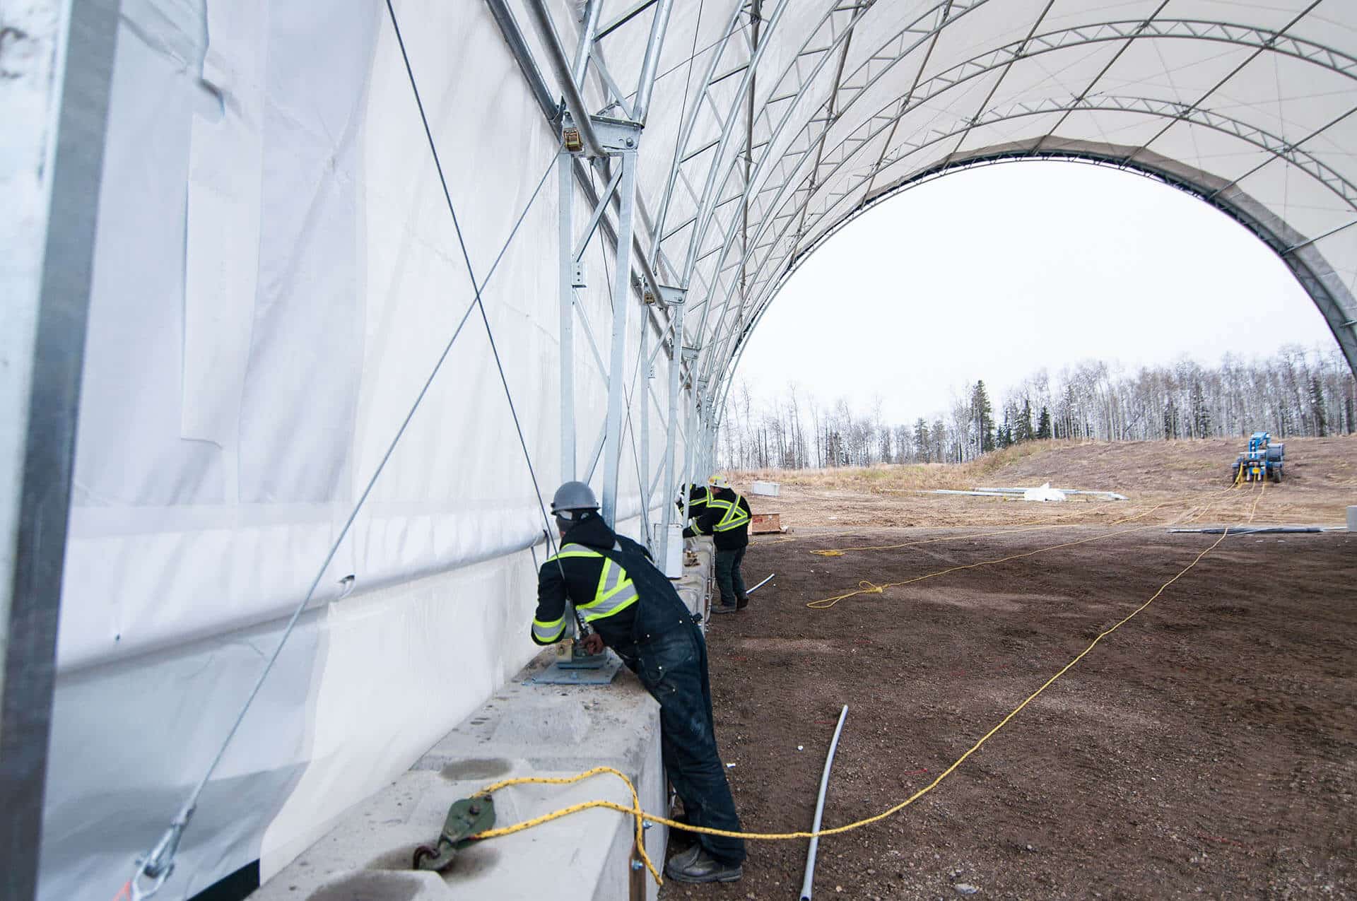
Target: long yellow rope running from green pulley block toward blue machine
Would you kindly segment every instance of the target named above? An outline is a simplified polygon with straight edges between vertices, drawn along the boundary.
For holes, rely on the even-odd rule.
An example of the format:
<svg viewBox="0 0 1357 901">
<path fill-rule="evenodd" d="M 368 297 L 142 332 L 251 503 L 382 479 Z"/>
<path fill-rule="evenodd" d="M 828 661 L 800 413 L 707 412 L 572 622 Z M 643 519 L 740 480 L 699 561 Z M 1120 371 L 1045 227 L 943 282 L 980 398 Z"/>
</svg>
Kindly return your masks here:
<svg viewBox="0 0 1357 901">
<path fill-rule="evenodd" d="M 1262 499 L 1262 494 L 1259 494 L 1258 499 L 1254 501 L 1254 510 L 1257 510 L 1258 501 L 1261 501 L 1261 499 Z M 1250 513 L 1250 517 L 1251 516 L 1253 516 L 1253 513 Z M 1128 529 L 1128 531 L 1136 531 L 1136 529 Z M 936 788 L 942 783 L 942 780 L 946 779 L 947 776 L 950 776 L 958 767 L 961 767 L 961 764 L 965 763 L 968 757 L 970 757 L 973 753 L 976 753 L 977 750 L 980 750 L 980 748 L 987 741 L 989 741 L 1000 729 L 1003 729 L 1004 726 L 1007 726 L 1008 722 L 1014 716 L 1016 716 L 1019 711 L 1022 711 L 1022 708 L 1025 708 L 1027 704 L 1030 704 L 1033 700 L 1035 700 L 1037 696 L 1041 695 L 1044 691 L 1046 691 L 1048 688 L 1050 688 L 1050 685 L 1054 684 L 1054 681 L 1057 678 L 1060 678 L 1067 672 L 1069 672 L 1069 669 L 1072 669 L 1075 666 L 1075 664 L 1077 664 L 1079 661 L 1082 661 L 1094 647 L 1096 647 L 1096 645 L 1102 639 L 1105 639 L 1109 635 L 1111 635 L 1113 632 L 1115 632 L 1118 628 L 1121 628 L 1122 626 L 1125 626 L 1126 623 L 1129 623 L 1137 613 L 1140 613 L 1147 607 L 1149 607 L 1151 604 L 1153 604 L 1159 598 L 1159 596 L 1162 596 L 1168 589 L 1170 585 L 1172 585 L 1174 582 L 1177 582 L 1178 579 L 1181 579 L 1183 575 L 1186 575 L 1189 570 L 1191 570 L 1194 566 L 1197 566 L 1202 560 L 1202 558 L 1205 558 L 1208 554 L 1210 554 L 1212 551 L 1215 551 L 1216 547 L 1219 547 L 1220 543 L 1224 541 L 1228 535 L 1229 535 L 1229 528 L 1227 526 L 1225 531 L 1220 535 L 1219 539 L 1216 539 L 1212 543 L 1210 547 L 1208 547 L 1201 554 L 1198 554 L 1193 559 L 1191 563 L 1189 563 L 1182 570 L 1179 570 L 1171 579 L 1168 579 L 1167 582 L 1164 582 L 1163 585 L 1160 585 L 1159 589 L 1153 594 L 1149 596 L 1149 600 L 1147 600 L 1144 604 L 1141 604 L 1140 607 L 1137 607 L 1136 609 L 1133 609 L 1130 613 L 1128 613 L 1122 619 L 1117 620 L 1117 623 L 1114 623 L 1111 627 L 1109 627 L 1109 628 L 1103 630 L 1102 632 L 1099 632 L 1098 636 L 1094 638 L 1094 640 L 1090 642 L 1088 646 L 1084 650 L 1082 650 L 1077 657 L 1075 657 L 1072 661 L 1069 661 L 1068 664 L 1065 664 L 1064 666 L 1061 666 L 1060 670 L 1056 672 L 1056 674 L 1052 676 L 1050 678 L 1048 678 L 1045 683 L 1042 683 L 1041 687 L 1037 688 L 1037 691 L 1034 691 L 1030 695 L 1027 695 L 1027 697 L 1025 697 L 1020 704 L 1018 704 L 1016 707 L 1014 707 L 989 731 L 987 731 L 984 735 L 981 735 L 980 740 L 976 741 L 976 744 L 973 744 L 970 748 L 968 748 L 966 752 L 961 757 L 958 757 L 950 767 L 947 767 L 940 773 L 938 773 L 936 779 L 934 779 L 927 786 L 924 786 L 923 788 L 920 788 L 915 794 L 909 795 L 908 798 L 905 798 L 900 803 L 897 803 L 897 805 L 894 805 L 892 807 L 887 807 L 886 810 L 883 810 L 883 811 L 881 811 L 881 813 L 878 813 L 875 816 L 867 817 L 864 820 L 858 820 L 855 822 L 849 822 L 849 824 L 845 824 L 843 826 L 833 826 L 833 828 L 829 828 L 829 829 L 820 829 L 818 832 L 733 832 L 733 830 L 729 830 L 729 829 L 712 829 L 710 826 L 695 826 L 695 825 L 691 825 L 691 824 L 685 824 L 685 822 L 678 822 L 676 820 L 670 820 L 668 817 L 658 817 L 655 814 L 646 813 L 645 810 L 641 809 L 641 802 L 639 802 L 639 798 L 636 795 L 636 790 L 632 786 L 631 780 L 627 779 L 626 775 L 617 772 L 616 769 L 613 769 L 611 767 L 596 767 L 593 769 L 589 769 L 586 772 L 579 773 L 578 776 L 570 776 L 570 778 L 562 778 L 562 779 L 551 779 L 551 778 L 540 778 L 540 776 L 529 776 L 529 778 L 518 778 L 518 779 L 505 779 L 502 782 L 497 782 L 497 783 L 494 783 L 491 786 L 487 786 L 486 788 L 482 788 L 476 794 L 478 795 L 489 795 L 490 792 L 498 791 L 499 788 L 506 788 L 509 786 L 517 786 L 517 784 L 569 784 L 569 783 L 579 782 L 582 779 L 588 779 L 589 776 L 594 776 L 594 775 L 607 772 L 607 773 L 616 775 L 619 779 L 622 779 L 623 782 L 627 783 L 627 787 L 631 790 L 631 802 L 632 802 L 631 807 L 627 807 L 624 805 L 619 805 L 619 803 L 616 803 L 613 801 L 585 801 L 585 802 L 581 802 L 581 803 L 577 803 L 577 805 L 570 805 L 569 807 L 562 807 L 559 810 L 552 810 L 551 813 L 546 813 L 546 814 L 543 814 L 540 817 L 533 817 L 531 820 L 524 820 L 522 822 L 516 822 L 516 824 L 509 825 L 509 826 L 501 826 L 498 829 L 489 829 L 489 830 L 482 832 L 482 833 L 479 833 L 479 835 L 476 835 L 474 837 L 476 840 L 487 840 L 487 839 L 498 839 L 501 836 L 510 836 L 510 835 L 514 835 L 516 832 L 524 832 L 525 829 L 532 829 L 535 826 L 540 826 L 540 825 L 551 822 L 554 820 L 560 820 L 562 817 L 569 817 L 570 814 L 579 813 L 581 810 L 598 809 L 598 807 L 607 809 L 607 810 L 616 810 L 617 813 L 631 814 L 631 817 L 635 820 L 635 824 L 636 824 L 636 849 L 638 849 L 638 854 L 641 855 L 642 860 L 645 860 L 646 868 L 650 871 L 650 875 L 654 877 L 655 883 L 657 885 L 664 885 L 664 879 L 660 877 L 660 873 L 655 870 L 654 864 L 650 862 L 650 858 L 646 855 L 645 841 L 643 841 L 643 825 L 642 825 L 645 822 L 658 822 L 658 824 L 669 826 L 670 829 L 681 829 L 684 832 L 696 832 L 696 833 L 707 835 L 707 836 L 722 836 L 722 837 L 727 837 L 727 839 L 750 839 L 750 840 L 764 840 L 764 841 L 783 841 L 783 840 L 817 839 L 817 837 L 824 837 L 824 836 L 836 836 L 836 835 L 841 835 L 844 832 L 852 832 L 854 829 L 860 829 L 862 826 L 867 826 L 867 825 L 871 825 L 874 822 L 881 822 L 882 820 L 885 820 L 885 818 L 887 818 L 887 817 L 890 817 L 893 814 L 900 813 L 901 810 L 904 810 L 905 807 L 908 807 L 909 805 L 915 803 L 916 801 L 919 801 L 920 798 L 923 798 L 925 794 L 928 794 L 930 791 L 932 791 L 934 788 Z M 1107 536 L 1099 536 L 1099 537 L 1107 537 Z"/>
</svg>

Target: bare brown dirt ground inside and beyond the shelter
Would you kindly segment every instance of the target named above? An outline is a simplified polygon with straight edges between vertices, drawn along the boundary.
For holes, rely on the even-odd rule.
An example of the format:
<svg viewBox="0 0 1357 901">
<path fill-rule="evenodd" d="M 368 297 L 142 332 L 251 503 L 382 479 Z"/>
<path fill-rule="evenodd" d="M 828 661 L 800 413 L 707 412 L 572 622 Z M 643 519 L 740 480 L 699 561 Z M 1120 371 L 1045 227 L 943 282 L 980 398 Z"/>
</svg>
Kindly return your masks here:
<svg viewBox="0 0 1357 901">
<path fill-rule="evenodd" d="M 1128 471 L 1105 448 L 1064 449 L 1088 474 L 1065 487 L 1133 494 L 1125 480 L 1096 479 Z M 816 488 L 787 491 L 778 506 L 794 531 L 757 537 L 744 564 L 750 583 L 776 578 L 708 634 L 716 735 L 745 828 L 809 828 L 843 704 L 825 825 L 905 799 L 1219 537 L 1115 532 L 1160 516 L 1234 522 L 1250 510 L 1259 524 L 1341 522 L 1342 503 L 1357 503 L 1357 453 L 1343 457 L 1345 448 L 1357 444 L 1338 440 L 1327 461 L 1297 453 L 1293 464 L 1288 442 L 1293 478 L 1262 497 L 1223 493 L 1216 453 L 1196 483 L 1162 484 L 1163 499 L 1136 497 L 1114 512 L 1038 507 L 1087 512 L 1092 525 L 835 558 L 809 551 L 955 539 L 987 522 L 993 532 L 995 521 L 1018 521 L 1010 510 L 1030 520 L 1037 505 L 976 498 L 982 507 L 958 510 L 947 498 L 958 520 L 997 513 L 966 517 L 972 528 L 829 528 L 833 509 L 901 524 L 938 509 L 925 495 L 856 491 L 835 503 Z M 992 483 L 1031 480 L 1004 476 Z M 1152 516 L 1107 525 L 1155 503 Z M 898 582 L 1090 537 L 806 607 L 860 579 Z M 1225 537 L 935 790 L 883 822 L 824 839 L 816 897 L 1357 897 L 1354 607 L 1357 536 Z M 752 841 L 741 882 L 666 883 L 661 898 L 797 897 L 806 844 Z"/>
</svg>

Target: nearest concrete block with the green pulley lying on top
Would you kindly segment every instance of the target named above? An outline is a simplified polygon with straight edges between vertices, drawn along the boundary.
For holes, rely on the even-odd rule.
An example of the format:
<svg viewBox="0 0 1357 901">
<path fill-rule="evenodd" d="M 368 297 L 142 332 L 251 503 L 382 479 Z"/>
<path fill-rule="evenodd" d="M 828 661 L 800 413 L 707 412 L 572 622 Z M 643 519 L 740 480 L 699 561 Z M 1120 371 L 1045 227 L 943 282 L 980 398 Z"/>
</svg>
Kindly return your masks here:
<svg viewBox="0 0 1357 901">
<path fill-rule="evenodd" d="M 345 814 L 251 898 L 654 900 L 649 874 L 631 867 L 632 820 L 603 809 L 474 844 L 444 874 L 410 870 L 415 847 L 433 844 L 455 801 L 514 776 L 574 776 L 608 765 L 632 779 L 645 810 L 668 813 L 654 699 L 627 670 L 607 688 L 522 681 L 552 659 L 550 649 L 540 654 L 410 772 Z M 571 786 L 513 786 L 494 795 L 495 825 L 593 799 L 631 806 L 626 784 L 609 775 Z M 645 836 L 647 854 L 662 866 L 666 829 L 657 826 Z"/>
</svg>

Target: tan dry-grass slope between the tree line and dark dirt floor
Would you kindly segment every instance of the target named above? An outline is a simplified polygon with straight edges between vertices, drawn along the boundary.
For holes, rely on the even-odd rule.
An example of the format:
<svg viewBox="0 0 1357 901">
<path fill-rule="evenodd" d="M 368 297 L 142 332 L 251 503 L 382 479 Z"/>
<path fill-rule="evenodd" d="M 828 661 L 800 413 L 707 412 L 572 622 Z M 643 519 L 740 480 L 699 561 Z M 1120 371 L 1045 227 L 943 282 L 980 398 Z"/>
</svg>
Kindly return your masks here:
<svg viewBox="0 0 1357 901">
<path fill-rule="evenodd" d="M 780 483 L 780 497 L 750 498 L 760 512 L 782 513 L 791 529 L 816 526 L 923 528 L 1014 522 L 1109 524 L 1125 517 L 1170 522 L 1229 486 L 1228 467 L 1243 442 L 1033 441 L 962 464 L 878 465 L 843 469 L 734 472 Z M 1129 501 L 1075 499 L 1035 503 L 1001 498 L 925 494 L 934 488 L 1035 487 L 1117 491 Z M 1357 436 L 1292 438 L 1281 484 L 1270 486 L 1259 522 L 1342 525 L 1357 505 Z M 1232 507 L 1221 507 L 1227 521 Z"/>
</svg>

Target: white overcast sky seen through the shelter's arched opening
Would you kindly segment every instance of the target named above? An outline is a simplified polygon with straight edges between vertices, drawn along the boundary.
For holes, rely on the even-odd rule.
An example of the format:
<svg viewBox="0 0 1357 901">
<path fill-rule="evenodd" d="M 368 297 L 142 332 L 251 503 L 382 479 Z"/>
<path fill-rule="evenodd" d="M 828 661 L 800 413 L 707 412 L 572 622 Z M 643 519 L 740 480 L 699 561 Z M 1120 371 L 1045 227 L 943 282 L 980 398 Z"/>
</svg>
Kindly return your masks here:
<svg viewBox="0 0 1357 901">
<path fill-rule="evenodd" d="M 1039 366 L 1126 370 L 1189 356 L 1335 346 L 1272 251 L 1201 201 L 1107 167 L 1031 161 L 961 171 L 878 205 L 792 275 L 740 379 L 790 380 L 890 422 L 991 396 Z"/>
</svg>

